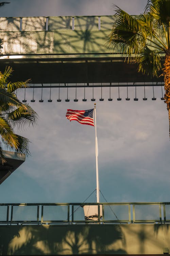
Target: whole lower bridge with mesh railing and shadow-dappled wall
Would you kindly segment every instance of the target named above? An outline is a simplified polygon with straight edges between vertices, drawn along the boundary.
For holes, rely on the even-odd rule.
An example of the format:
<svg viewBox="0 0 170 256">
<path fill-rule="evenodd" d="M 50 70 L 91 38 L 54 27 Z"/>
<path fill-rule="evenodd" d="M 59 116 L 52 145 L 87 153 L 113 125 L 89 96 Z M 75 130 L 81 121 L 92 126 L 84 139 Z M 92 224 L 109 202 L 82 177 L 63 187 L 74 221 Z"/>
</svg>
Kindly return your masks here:
<svg viewBox="0 0 170 256">
<path fill-rule="evenodd" d="M 170 202 L 0 204 L 1 255 L 169 254 L 169 225 Z"/>
</svg>

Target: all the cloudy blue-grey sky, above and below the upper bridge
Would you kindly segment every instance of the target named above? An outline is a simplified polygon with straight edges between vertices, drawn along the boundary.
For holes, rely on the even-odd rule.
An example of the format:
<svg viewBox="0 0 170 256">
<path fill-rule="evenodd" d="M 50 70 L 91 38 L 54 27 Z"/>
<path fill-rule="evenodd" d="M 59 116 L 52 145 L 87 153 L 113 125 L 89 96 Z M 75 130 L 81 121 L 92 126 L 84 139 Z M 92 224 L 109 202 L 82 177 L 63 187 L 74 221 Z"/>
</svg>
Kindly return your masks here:
<svg viewBox="0 0 170 256">
<path fill-rule="evenodd" d="M 11 0 L 0 9 L 0 16 L 64 16 L 112 15 L 113 4 L 131 14 L 139 14 L 147 0 Z M 30 75 L 30 74 L 29 74 Z M 31 77 L 28 77 L 31 78 Z M 95 90 L 97 103 L 97 133 L 99 147 L 100 189 L 109 202 L 161 202 L 169 201 L 169 124 L 161 88 L 155 88 L 156 101 L 152 101 L 152 88 L 146 88 L 147 101 L 143 101 L 143 88 L 120 88 L 122 101 L 117 101 L 118 89 Z M 22 100 L 24 92 L 18 94 Z M 96 188 L 95 129 L 69 122 L 67 109 L 91 109 L 92 92 L 87 91 L 87 102 L 82 102 L 83 89 L 78 89 L 78 102 L 70 90 L 70 102 L 65 102 L 66 91 L 61 89 L 62 102 L 56 102 L 58 90 L 27 89 L 26 99 L 39 115 L 38 125 L 21 134 L 32 142 L 26 161 L 0 185 L 1 203 L 7 202 L 83 202 Z M 95 196 L 90 201 L 94 202 Z M 104 199 L 101 197 L 101 201 Z"/>
</svg>

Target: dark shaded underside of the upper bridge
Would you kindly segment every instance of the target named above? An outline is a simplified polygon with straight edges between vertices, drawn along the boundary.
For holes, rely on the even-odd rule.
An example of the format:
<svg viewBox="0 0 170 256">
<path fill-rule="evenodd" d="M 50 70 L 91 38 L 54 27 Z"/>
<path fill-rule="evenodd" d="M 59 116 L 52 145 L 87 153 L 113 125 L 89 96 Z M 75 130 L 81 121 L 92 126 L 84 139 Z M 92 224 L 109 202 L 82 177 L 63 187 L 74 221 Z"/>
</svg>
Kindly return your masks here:
<svg viewBox="0 0 170 256">
<path fill-rule="evenodd" d="M 0 59 L 1 70 L 14 69 L 13 81 L 31 78 L 35 84 L 55 83 L 140 83 L 163 82 L 137 72 L 135 63 L 115 58 L 24 58 Z"/>
</svg>

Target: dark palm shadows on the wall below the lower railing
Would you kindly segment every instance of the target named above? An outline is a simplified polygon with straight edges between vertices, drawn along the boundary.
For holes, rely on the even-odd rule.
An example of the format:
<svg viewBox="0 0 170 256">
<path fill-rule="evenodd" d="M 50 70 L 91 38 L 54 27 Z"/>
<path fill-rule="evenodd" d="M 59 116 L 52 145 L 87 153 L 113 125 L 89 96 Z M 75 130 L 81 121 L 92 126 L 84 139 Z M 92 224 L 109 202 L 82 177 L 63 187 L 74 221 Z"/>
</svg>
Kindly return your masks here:
<svg viewBox="0 0 170 256">
<path fill-rule="evenodd" d="M 127 254 L 117 225 L 8 226 L 0 238 L 0 255 Z"/>
</svg>

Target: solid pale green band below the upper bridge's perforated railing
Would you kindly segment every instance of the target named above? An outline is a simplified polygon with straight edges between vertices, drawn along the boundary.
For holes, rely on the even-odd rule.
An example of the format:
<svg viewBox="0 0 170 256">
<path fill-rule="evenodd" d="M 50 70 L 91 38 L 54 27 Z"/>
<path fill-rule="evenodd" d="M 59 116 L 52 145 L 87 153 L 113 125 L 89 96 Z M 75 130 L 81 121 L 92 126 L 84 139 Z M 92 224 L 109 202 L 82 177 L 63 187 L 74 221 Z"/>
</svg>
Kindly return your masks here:
<svg viewBox="0 0 170 256">
<path fill-rule="evenodd" d="M 108 31 L 0 32 L 3 54 L 91 54 L 109 53 Z"/>
</svg>

